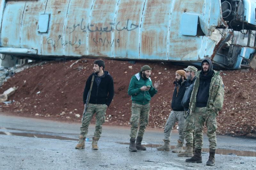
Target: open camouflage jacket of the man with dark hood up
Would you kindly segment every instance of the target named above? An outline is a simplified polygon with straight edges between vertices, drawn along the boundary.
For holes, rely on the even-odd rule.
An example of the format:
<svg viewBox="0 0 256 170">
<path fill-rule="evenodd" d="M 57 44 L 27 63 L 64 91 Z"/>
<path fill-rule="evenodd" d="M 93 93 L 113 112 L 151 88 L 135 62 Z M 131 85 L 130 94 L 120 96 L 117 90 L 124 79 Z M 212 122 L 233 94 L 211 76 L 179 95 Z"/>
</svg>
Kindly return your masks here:
<svg viewBox="0 0 256 170">
<path fill-rule="evenodd" d="M 222 81 L 222 78 L 220 77 L 219 71 L 214 71 L 214 75 L 211 80 L 210 89 L 209 89 L 209 98 L 207 101 L 207 113 L 214 112 L 217 115 L 219 114 L 219 111 L 222 109 L 223 101 L 224 101 L 224 84 Z M 201 71 L 198 71 L 198 75 L 200 75 Z M 199 87 L 199 76 L 197 77 L 194 88 L 191 94 L 191 99 L 189 106 L 191 112 L 194 112 L 196 109 L 196 96 L 197 91 Z M 191 113 L 190 112 L 190 113 Z"/>
</svg>

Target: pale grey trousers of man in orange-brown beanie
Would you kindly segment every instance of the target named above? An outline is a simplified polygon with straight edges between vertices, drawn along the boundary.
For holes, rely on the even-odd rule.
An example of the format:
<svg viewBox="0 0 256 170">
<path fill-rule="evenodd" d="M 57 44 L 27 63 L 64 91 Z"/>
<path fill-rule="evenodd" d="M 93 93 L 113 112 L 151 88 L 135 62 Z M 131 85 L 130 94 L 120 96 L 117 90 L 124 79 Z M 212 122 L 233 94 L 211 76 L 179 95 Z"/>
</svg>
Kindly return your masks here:
<svg viewBox="0 0 256 170">
<path fill-rule="evenodd" d="M 179 122 L 179 140 L 181 142 L 184 142 L 184 134 L 183 134 L 183 129 L 184 129 L 184 124 L 185 124 L 185 119 L 184 119 L 184 111 L 171 111 L 165 126 L 164 126 L 164 140 L 170 140 L 171 139 L 171 133 L 172 133 L 172 128 L 176 122 Z"/>
</svg>

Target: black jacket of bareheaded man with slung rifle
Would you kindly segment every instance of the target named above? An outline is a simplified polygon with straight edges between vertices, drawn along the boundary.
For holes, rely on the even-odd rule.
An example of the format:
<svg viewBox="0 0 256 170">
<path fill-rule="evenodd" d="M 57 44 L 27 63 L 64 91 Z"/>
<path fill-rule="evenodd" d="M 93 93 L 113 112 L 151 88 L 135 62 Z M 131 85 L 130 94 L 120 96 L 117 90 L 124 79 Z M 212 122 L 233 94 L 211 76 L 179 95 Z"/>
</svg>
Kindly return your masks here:
<svg viewBox="0 0 256 170">
<path fill-rule="evenodd" d="M 92 73 L 92 74 L 94 74 L 94 73 Z M 84 95 L 83 95 L 84 104 L 86 103 L 87 94 L 91 87 L 92 74 L 87 79 L 85 87 L 84 87 Z M 92 92 L 91 92 L 91 97 L 90 97 L 89 103 L 106 104 L 107 106 L 109 106 L 114 97 L 113 78 L 110 76 L 108 71 L 104 71 L 104 76 L 101 76 L 100 78 L 101 78 L 101 81 L 100 81 L 100 84 L 98 87 L 97 83 L 95 81 L 95 76 L 94 76 Z"/>
</svg>

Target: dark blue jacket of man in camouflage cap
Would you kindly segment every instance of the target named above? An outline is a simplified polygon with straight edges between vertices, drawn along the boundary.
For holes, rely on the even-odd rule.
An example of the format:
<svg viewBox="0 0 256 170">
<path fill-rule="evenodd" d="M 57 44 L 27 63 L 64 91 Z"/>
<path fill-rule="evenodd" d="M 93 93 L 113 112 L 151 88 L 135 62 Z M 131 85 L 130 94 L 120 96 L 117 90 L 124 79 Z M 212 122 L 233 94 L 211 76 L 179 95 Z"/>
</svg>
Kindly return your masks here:
<svg viewBox="0 0 256 170">
<path fill-rule="evenodd" d="M 195 81 L 196 81 L 196 76 L 194 77 L 194 79 L 192 81 L 191 80 L 187 80 L 188 87 L 186 87 L 186 91 L 185 91 L 184 96 L 183 96 L 183 98 L 181 100 L 181 105 L 184 107 L 185 111 L 188 111 L 190 97 L 191 97 L 191 93 L 193 91 L 193 87 L 194 87 Z"/>
</svg>

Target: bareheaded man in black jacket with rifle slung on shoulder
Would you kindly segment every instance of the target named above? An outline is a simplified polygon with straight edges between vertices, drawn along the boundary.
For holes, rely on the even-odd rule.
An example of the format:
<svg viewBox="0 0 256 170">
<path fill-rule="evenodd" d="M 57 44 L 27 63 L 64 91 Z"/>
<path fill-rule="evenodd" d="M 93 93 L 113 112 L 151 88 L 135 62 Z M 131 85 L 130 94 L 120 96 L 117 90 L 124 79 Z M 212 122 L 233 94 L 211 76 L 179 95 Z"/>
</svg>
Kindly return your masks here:
<svg viewBox="0 0 256 170">
<path fill-rule="evenodd" d="M 83 95 L 84 113 L 82 126 L 80 127 L 79 143 L 76 145 L 76 149 L 83 149 L 85 147 L 84 140 L 88 133 L 88 126 L 92 120 L 92 116 L 96 113 L 96 126 L 94 136 L 92 137 L 92 149 L 98 150 L 97 143 L 102 132 L 102 124 L 105 122 L 106 110 L 114 97 L 113 78 L 108 71 L 104 71 L 104 68 L 105 63 L 103 60 L 94 61 L 94 73 L 92 73 L 86 81 Z M 86 100 L 89 98 L 88 93 L 90 91 L 92 77 L 94 77 L 94 81 L 90 100 L 86 103 Z"/>
</svg>

